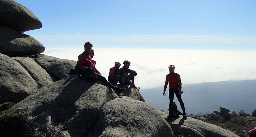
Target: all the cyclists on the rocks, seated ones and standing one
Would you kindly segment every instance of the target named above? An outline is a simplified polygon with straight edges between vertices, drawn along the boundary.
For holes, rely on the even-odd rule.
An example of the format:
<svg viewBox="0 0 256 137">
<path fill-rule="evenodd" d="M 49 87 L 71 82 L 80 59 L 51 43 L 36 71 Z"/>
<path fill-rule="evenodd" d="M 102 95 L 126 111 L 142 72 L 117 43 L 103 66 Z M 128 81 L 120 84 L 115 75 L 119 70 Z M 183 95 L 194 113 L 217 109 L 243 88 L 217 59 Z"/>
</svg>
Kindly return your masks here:
<svg viewBox="0 0 256 137">
<path fill-rule="evenodd" d="M 78 56 L 79 73 L 82 74 L 82 76 L 86 77 L 88 81 L 101 80 L 104 84 L 106 84 L 110 88 L 113 88 L 117 93 L 122 93 L 126 90 L 126 88 L 119 88 L 118 86 L 113 85 L 117 84 L 118 82 L 119 84 L 130 85 L 133 88 L 137 88 L 134 84 L 134 77 L 137 75 L 137 72 L 129 69 L 131 64 L 129 61 L 124 61 L 124 66 L 122 68 L 120 68 L 121 63 L 115 62 L 114 67 L 110 68 L 108 80 L 106 80 L 106 78 L 102 76 L 100 72 L 95 68 L 96 61 L 92 60 L 94 56 L 94 50 L 92 49 L 92 47 L 92 43 L 86 42 L 84 44 L 84 52 Z M 180 102 L 183 115 L 186 116 L 184 103 L 181 98 L 181 94 L 183 92 L 181 90 L 180 75 L 174 72 L 174 65 L 170 65 L 168 68 L 170 73 L 166 75 L 163 95 L 166 95 L 165 91 L 167 85 L 169 84 L 169 112 L 171 107 L 170 105 L 173 103 L 175 94 L 178 98 L 178 101 Z"/>
</svg>

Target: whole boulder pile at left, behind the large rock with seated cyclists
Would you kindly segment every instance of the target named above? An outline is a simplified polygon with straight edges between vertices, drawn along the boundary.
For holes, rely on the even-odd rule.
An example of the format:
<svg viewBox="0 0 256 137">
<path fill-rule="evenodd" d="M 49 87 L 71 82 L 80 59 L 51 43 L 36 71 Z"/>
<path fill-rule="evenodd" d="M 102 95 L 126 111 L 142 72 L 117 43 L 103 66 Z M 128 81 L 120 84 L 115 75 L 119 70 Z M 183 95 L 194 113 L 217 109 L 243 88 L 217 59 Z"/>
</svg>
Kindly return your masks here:
<svg viewBox="0 0 256 137">
<path fill-rule="evenodd" d="M 68 76 L 75 61 L 46 55 L 45 47 L 24 31 L 42 27 L 28 8 L 0 0 L 0 104 L 18 103 L 35 90 Z"/>
</svg>

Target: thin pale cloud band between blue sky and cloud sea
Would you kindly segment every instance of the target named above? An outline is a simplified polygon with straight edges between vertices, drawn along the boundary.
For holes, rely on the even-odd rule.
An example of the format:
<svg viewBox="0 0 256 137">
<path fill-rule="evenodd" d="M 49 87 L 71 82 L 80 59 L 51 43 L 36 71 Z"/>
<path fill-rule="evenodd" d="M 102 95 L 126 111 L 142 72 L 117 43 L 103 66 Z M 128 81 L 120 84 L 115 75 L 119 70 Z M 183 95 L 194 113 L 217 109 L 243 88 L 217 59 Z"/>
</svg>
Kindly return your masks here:
<svg viewBox="0 0 256 137">
<path fill-rule="evenodd" d="M 152 47 L 158 46 L 170 46 L 170 45 L 182 45 L 188 46 L 193 45 L 196 47 L 197 44 L 212 45 L 214 47 L 221 48 L 216 45 L 229 45 L 241 47 L 250 46 L 256 44 L 256 37 L 241 36 L 241 35 L 84 35 L 84 34 L 74 34 L 74 35 L 33 35 L 38 41 L 40 41 L 45 47 L 63 47 L 63 46 L 73 46 L 79 47 L 84 44 L 84 41 L 88 41 L 104 46 L 104 45 L 147 45 Z M 176 48 L 178 46 L 175 46 Z M 225 46 L 222 46 L 222 48 Z"/>
</svg>

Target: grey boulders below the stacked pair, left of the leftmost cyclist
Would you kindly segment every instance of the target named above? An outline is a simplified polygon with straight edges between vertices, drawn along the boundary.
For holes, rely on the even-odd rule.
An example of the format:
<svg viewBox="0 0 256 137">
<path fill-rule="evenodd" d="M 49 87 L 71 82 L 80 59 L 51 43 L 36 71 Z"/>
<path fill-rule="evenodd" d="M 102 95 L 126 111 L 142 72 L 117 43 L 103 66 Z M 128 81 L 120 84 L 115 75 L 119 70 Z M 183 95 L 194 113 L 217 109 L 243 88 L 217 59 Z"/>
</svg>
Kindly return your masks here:
<svg viewBox="0 0 256 137">
<path fill-rule="evenodd" d="M 0 53 L 0 104 L 20 102 L 39 88 L 69 76 L 68 70 L 75 65 L 76 61 L 46 55 L 10 58 Z"/>
</svg>

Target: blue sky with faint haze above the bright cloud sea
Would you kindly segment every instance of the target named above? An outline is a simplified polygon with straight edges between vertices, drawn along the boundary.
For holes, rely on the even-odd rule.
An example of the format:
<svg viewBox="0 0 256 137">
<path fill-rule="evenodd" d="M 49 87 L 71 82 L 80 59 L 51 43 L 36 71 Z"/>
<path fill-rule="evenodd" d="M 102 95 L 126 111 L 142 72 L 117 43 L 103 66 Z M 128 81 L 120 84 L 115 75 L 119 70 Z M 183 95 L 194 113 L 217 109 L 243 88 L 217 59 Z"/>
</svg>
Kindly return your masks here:
<svg viewBox="0 0 256 137">
<path fill-rule="evenodd" d="M 46 48 L 256 51 L 255 0 L 15 0 L 42 22 Z"/>
</svg>

